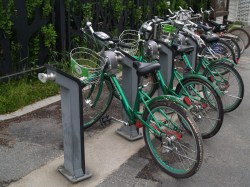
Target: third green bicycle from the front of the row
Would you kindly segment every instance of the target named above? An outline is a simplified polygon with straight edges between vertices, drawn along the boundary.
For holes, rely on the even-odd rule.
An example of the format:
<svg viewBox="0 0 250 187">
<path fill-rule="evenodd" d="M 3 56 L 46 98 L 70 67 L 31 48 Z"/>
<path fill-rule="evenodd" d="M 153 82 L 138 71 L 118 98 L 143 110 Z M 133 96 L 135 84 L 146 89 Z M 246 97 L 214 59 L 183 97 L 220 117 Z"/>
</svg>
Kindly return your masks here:
<svg viewBox="0 0 250 187">
<path fill-rule="evenodd" d="M 194 24 L 189 22 L 190 24 Z M 239 74 L 239 72 L 233 67 L 237 64 L 235 62 L 225 58 L 220 57 L 217 58 L 217 55 L 214 53 L 214 50 L 211 47 L 206 46 L 204 40 L 213 41 L 217 40 L 214 36 L 206 36 L 206 38 L 202 38 L 199 35 L 196 35 L 186 26 L 182 29 L 187 34 L 191 35 L 197 41 L 198 46 L 201 51 L 199 55 L 199 60 L 196 62 L 196 68 L 194 67 L 194 73 L 202 74 L 205 77 L 212 78 L 213 83 L 220 88 L 221 91 L 221 99 L 223 103 L 224 112 L 231 112 L 235 110 L 243 100 L 244 97 L 244 83 Z M 203 47 L 202 47 L 203 46 Z M 206 51 L 206 52 L 205 52 Z M 204 54 L 205 53 L 205 54 Z M 207 54 L 211 54 L 212 59 L 208 60 Z M 185 60 L 185 59 L 184 59 Z M 186 62 L 187 64 L 187 62 Z M 228 76 L 228 77 L 226 77 Z M 233 79 L 236 84 L 236 87 L 232 87 L 233 81 L 229 81 L 229 79 Z M 232 93 L 232 94 L 230 94 Z"/>
</svg>

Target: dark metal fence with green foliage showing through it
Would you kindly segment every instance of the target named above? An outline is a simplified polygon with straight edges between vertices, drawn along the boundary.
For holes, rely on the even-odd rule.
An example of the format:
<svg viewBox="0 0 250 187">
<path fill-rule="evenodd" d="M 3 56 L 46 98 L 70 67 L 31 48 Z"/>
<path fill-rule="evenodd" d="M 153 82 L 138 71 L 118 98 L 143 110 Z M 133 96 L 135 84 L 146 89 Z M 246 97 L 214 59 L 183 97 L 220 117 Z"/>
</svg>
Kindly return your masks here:
<svg viewBox="0 0 250 187">
<path fill-rule="evenodd" d="M 160 0 L 133 0 L 122 1 L 122 10 L 114 10 L 111 4 L 102 4 L 99 0 L 50 0 L 52 12 L 43 16 L 43 9 L 36 7 L 33 11 L 34 19 L 27 19 L 26 0 L 13 0 L 14 13 L 10 19 L 12 21 L 12 34 L 14 39 L 0 28 L 0 81 L 8 77 L 26 73 L 42 67 L 46 62 L 46 57 L 51 50 L 69 50 L 71 40 L 76 36 L 81 36 L 80 27 L 83 20 L 86 20 L 86 10 L 84 8 L 91 3 L 91 20 L 95 29 L 102 25 L 103 31 L 116 30 L 120 33 L 127 28 L 136 29 L 139 26 L 138 14 L 141 20 L 152 18 L 159 13 Z M 2 5 L 7 9 L 8 0 L 2 0 Z M 69 2 L 67 4 L 66 2 Z M 130 2 L 130 4 L 129 4 Z M 131 8 L 133 6 L 133 8 Z M 79 8 L 80 7 L 80 8 Z M 119 13 L 119 14 L 117 14 Z M 2 15 L 1 15 L 2 16 Z M 30 59 L 31 40 L 41 30 L 42 26 L 52 24 L 57 33 L 56 46 L 48 49 L 43 38 L 39 38 L 39 51 L 36 59 Z M 16 47 L 13 48 L 15 43 Z M 14 52 L 13 52 L 14 50 Z"/>
</svg>

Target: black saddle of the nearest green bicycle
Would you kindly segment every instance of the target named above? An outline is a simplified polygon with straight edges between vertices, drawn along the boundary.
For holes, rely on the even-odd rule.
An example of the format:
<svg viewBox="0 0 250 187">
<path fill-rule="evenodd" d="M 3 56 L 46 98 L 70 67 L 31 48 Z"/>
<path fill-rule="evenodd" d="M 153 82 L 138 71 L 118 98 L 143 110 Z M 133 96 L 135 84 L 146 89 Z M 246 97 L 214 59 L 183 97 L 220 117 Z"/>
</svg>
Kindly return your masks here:
<svg viewBox="0 0 250 187">
<path fill-rule="evenodd" d="M 133 67 L 136 69 L 137 75 L 142 76 L 155 70 L 159 70 L 161 68 L 161 65 L 159 63 L 142 63 L 139 61 L 134 61 Z"/>
</svg>

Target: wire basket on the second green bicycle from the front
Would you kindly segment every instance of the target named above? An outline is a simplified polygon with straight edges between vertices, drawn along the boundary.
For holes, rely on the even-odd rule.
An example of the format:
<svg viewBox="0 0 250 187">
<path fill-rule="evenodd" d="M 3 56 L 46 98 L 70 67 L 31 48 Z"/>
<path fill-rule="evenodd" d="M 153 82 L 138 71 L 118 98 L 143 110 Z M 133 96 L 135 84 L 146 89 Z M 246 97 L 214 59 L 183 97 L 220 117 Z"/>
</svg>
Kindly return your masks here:
<svg viewBox="0 0 250 187">
<path fill-rule="evenodd" d="M 140 34 L 136 30 L 125 30 L 119 36 L 119 42 L 130 46 L 130 48 L 120 47 L 120 49 L 130 54 L 131 56 L 134 56 L 137 53 L 139 41 Z"/>
</svg>

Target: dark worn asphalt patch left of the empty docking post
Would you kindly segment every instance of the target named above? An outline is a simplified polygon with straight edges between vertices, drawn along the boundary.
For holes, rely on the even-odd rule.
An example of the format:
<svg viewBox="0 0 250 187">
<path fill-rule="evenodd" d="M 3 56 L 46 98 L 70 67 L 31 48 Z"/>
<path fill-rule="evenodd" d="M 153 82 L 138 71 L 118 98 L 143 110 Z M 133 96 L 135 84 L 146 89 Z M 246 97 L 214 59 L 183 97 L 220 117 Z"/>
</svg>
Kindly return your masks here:
<svg viewBox="0 0 250 187">
<path fill-rule="evenodd" d="M 53 119 L 52 125 L 48 119 Z M 56 102 L 23 116 L 2 121 L 0 123 L 0 145 L 11 147 L 16 141 L 51 144 L 50 142 L 57 140 L 55 137 L 58 136 L 55 135 L 60 124 L 61 106 L 60 102 Z M 58 147 L 60 148 L 60 145 Z"/>
</svg>

